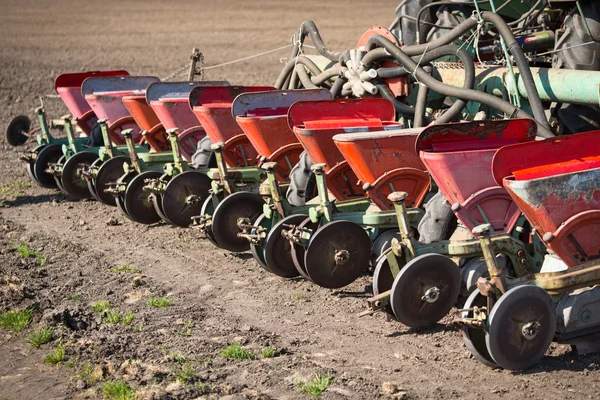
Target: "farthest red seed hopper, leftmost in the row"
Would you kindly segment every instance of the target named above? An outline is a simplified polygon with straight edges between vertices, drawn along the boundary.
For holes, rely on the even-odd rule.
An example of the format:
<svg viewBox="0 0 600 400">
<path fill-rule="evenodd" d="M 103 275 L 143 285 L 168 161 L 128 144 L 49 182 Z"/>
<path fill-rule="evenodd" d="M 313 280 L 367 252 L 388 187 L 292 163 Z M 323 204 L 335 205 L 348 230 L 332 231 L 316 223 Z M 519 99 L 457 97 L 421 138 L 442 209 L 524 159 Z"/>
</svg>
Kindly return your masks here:
<svg viewBox="0 0 600 400">
<path fill-rule="evenodd" d="M 98 118 L 81 94 L 83 81 L 91 77 L 126 75 L 129 75 L 127 71 L 89 71 L 61 74 L 54 81 L 54 90 L 65 103 L 71 115 L 77 118 L 79 128 L 89 136 Z"/>
</svg>

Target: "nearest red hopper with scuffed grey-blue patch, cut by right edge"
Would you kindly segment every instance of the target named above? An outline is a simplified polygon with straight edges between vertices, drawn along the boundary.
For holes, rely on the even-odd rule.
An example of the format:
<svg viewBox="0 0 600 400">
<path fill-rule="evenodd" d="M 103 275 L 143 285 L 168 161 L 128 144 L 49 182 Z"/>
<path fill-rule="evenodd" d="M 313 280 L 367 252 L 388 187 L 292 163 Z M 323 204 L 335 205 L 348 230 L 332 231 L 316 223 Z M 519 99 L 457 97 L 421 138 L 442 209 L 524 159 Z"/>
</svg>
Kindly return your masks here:
<svg viewBox="0 0 600 400">
<path fill-rule="evenodd" d="M 567 266 L 600 257 L 600 130 L 507 146 L 492 168 Z"/>
</svg>

